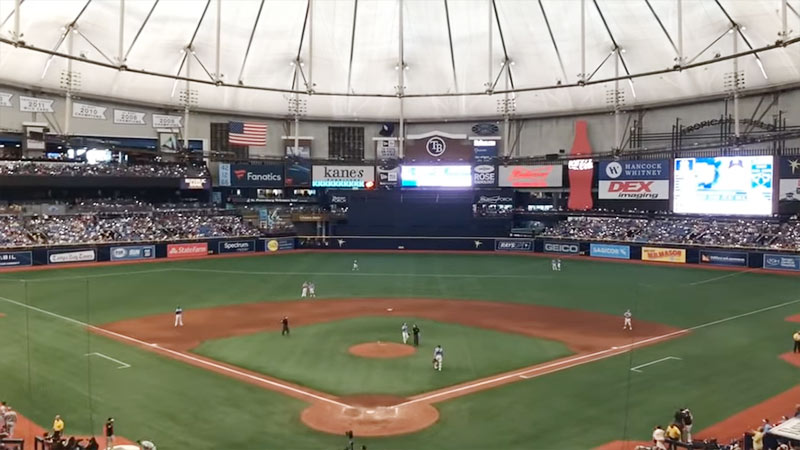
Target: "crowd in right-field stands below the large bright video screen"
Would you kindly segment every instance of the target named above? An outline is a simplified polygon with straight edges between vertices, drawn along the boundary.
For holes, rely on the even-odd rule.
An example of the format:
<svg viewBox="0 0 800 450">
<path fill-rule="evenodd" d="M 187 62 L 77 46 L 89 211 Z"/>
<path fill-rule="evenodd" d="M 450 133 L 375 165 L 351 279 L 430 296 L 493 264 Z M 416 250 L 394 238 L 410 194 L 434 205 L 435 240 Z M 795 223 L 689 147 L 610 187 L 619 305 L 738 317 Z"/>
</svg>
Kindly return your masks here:
<svg viewBox="0 0 800 450">
<path fill-rule="evenodd" d="M 570 217 L 543 237 L 593 241 L 800 250 L 800 221 Z"/>
</svg>

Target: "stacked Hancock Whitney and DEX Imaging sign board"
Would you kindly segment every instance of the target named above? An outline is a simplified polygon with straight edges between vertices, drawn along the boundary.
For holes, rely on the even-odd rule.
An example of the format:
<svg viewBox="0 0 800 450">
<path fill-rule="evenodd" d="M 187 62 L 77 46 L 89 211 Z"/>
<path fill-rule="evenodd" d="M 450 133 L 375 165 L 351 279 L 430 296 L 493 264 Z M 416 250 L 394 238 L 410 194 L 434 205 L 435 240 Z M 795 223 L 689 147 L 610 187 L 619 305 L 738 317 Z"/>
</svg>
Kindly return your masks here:
<svg viewBox="0 0 800 450">
<path fill-rule="evenodd" d="M 666 200 L 669 198 L 667 160 L 605 161 L 598 172 L 598 198 Z"/>
</svg>

